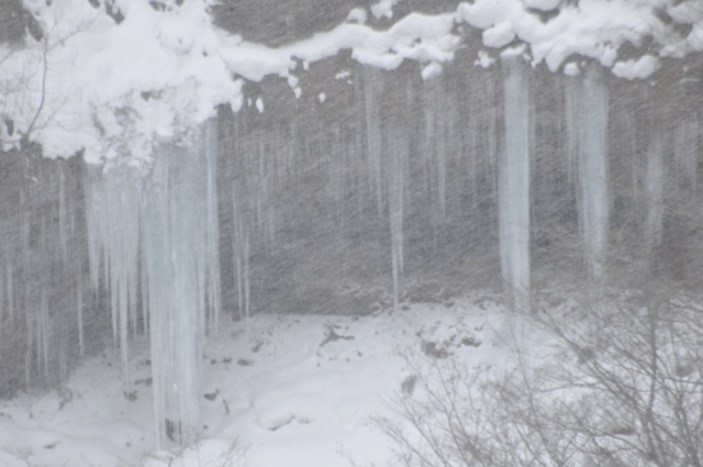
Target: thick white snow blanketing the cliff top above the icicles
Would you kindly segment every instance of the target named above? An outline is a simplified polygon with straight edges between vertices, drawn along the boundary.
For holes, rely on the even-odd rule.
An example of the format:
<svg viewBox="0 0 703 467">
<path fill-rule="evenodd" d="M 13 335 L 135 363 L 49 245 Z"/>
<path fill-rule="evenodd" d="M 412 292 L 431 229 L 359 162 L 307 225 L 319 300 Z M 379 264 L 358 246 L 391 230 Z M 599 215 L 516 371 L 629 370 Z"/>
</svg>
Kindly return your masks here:
<svg viewBox="0 0 703 467">
<path fill-rule="evenodd" d="M 673 7 L 666 0 L 580 0 L 576 7 L 560 0 L 476 0 L 446 14 L 410 14 L 384 31 L 364 24 L 366 11 L 357 8 L 334 30 L 279 48 L 216 29 L 210 3 L 165 2 L 155 9 L 143 0 L 119 0 L 118 22 L 104 5 L 85 0 L 25 0 L 44 40 L 27 38 L 21 49 L 0 47 L 2 148 L 25 137 L 47 157 L 82 153 L 101 163 L 130 155 L 131 164 L 148 163 L 156 141 L 213 116 L 215 105 L 238 110 L 244 79 L 279 76 L 300 97 L 298 60 L 350 49 L 357 62 L 383 69 L 417 60 L 429 79 L 461 46 L 457 23 L 483 30 L 487 48 L 477 51 L 482 65 L 498 55 L 491 48 L 500 52 L 518 41 L 528 44 L 533 65 L 556 71 L 570 60 L 569 75 L 578 73 L 572 59 L 587 57 L 618 77 L 645 78 L 658 68 L 658 57 L 649 52 L 618 60 L 618 49 L 648 37 L 659 56 L 703 51 L 703 7 L 694 1 Z M 390 18 L 395 3 L 379 1 L 370 13 Z M 555 8 L 548 21 L 536 14 Z M 689 24 L 688 35 L 674 32 L 673 22 Z"/>
</svg>

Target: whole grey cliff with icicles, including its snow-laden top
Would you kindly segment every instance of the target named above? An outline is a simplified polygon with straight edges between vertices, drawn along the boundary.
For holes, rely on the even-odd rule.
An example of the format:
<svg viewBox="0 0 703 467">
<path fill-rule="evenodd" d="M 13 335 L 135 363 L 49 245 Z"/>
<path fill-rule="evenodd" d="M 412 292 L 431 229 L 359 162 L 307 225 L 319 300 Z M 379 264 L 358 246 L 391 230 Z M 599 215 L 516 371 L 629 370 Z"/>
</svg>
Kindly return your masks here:
<svg viewBox="0 0 703 467">
<path fill-rule="evenodd" d="M 26 2 L 0 63 L 0 396 L 148 340 L 160 443 L 189 443 L 220 320 L 698 287 L 696 3 L 395 3 L 261 38 L 235 3 L 213 11 L 244 36 L 207 2 Z"/>
</svg>

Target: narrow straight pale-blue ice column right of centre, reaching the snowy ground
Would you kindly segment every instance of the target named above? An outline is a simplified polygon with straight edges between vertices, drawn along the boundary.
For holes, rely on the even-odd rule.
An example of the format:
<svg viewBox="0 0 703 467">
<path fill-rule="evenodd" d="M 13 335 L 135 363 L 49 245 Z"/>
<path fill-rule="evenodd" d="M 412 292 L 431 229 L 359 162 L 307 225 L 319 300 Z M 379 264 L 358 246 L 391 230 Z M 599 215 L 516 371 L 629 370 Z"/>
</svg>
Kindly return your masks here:
<svg viewBox="0 0 703 467">
<path fill-rule="evenodd" d="M 505 151 L 499 166 L 499 237 L 507 301 L 529 310 L 529 99 L 528 69 L 504 55 Z"/>
</svg>

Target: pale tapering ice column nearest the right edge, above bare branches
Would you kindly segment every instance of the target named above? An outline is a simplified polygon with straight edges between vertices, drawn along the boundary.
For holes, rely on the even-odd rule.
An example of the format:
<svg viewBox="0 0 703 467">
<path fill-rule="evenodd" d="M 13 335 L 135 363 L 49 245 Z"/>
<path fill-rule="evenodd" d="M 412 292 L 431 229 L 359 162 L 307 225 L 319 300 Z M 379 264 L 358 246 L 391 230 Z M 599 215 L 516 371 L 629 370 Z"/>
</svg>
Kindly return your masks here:
<svg viewBox="0 0 703 467">
<path fill-rule="evenodd" d="M 603 256 L 607 244 L 607 87 L 601 67 L 592 64 L 577 99 L 579 223 L 585 244 L 585 260 L 594 279 L 603 276 Z"/>
</svg>

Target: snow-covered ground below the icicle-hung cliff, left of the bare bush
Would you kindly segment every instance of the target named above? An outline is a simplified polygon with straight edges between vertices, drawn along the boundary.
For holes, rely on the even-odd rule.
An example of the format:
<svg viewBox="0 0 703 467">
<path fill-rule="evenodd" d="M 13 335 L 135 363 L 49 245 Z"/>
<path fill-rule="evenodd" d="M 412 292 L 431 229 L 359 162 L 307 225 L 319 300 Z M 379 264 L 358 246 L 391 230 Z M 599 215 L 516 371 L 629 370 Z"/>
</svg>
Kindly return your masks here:
<svg viewBox="0 0 703 467">
<path fill-rule="evenodd" d="M 154 452 L 146 345 L 134 351 L 126 389 L 118 352 L 94 355 L 63 394 L 0 402 L 0 465 L 389 465 L 393 446 L 371 419 L 402 422 L 391 401 L 412 397 L 408 355 L 477 368 L 500 367 L 511 352 L 501 336 L 509 314 L 490 293 L 402 308 L 223 325 L 203 357 L 203 441 L 181 452 Z"/>
</svg>

